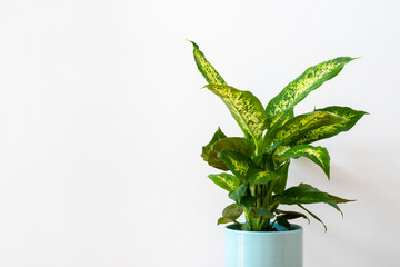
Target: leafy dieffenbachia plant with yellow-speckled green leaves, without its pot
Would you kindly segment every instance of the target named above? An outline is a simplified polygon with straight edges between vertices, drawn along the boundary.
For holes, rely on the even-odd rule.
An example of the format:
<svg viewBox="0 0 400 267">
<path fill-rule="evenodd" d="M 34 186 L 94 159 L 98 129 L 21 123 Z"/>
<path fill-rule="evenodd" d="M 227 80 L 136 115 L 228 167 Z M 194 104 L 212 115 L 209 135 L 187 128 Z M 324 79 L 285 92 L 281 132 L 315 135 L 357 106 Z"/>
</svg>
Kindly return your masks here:
<svg viewBox="0 0 400 267">
<path fill-rule="evenodd" d="M 329 179 L 328 150 L 310 144 L 350 130 L 367 112 L 331 106 L 294 116 L 293 108 L 354 58 L 339 57 L 308 68 L 264 108 L 250 91 L 228 86 L 199 46 L 192 44 L 197 67 L 208 82 L 206 88 L 222 99 L 244 135 L 227 137 L 218 128 L 211 141 L 202 147 L 201 157 L 210 166 L 226 171 L 209 178 L 234 201 L 223 209 L 218 224 L 233 222 L 243 230 L 271 231 L 276 222 L 291 228 L 289 220 L 308 219 L 302 212 L 281 209 L 282 204 L 300 207 L 327 229 L 304 206 L 322 202 L 341 212 L 338 204 L 352 200 L 307 184 L 286 188 L 290 160 L 306 157 L 320 166 Z M 238 218 L 243 212 L 246 222 L 240 224 Z"/>
</svg>

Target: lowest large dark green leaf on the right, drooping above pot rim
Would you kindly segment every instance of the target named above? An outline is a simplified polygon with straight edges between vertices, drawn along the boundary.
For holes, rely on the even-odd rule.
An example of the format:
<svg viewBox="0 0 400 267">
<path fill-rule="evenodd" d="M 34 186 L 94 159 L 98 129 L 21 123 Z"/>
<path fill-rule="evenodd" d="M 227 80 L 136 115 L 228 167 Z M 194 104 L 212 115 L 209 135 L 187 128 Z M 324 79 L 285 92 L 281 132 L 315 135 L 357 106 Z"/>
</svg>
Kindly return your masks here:
<svg viewBox="0 0 400 267">
<path fill-rule="evenodd" d="M 284 190 L 279 198 L 279 202 L 286 205 L 324 202 L 341 212 L 339 206 L 327 194 L 307 184 L 300 184 Z"/>
</svg>

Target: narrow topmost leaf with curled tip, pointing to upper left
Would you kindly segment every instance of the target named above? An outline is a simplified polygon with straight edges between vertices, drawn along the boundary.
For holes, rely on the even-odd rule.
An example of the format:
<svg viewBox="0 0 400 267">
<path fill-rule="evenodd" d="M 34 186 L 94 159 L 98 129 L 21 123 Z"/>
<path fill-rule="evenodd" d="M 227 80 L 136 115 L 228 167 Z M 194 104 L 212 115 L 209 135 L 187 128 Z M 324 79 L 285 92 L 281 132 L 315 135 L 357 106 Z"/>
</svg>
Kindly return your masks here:
<svg viewBox="0 0 400 267">
<path fill-rule="evenodd" d="M 199 46 L 190 41 L 193 44 L 193 56 L 196 65 L 201 72 L 201 75 L 206 78 L 208 83 L 212 85 L 227 85 L 222 77 L 217 72 L 217 70 L 211 66 L 211 63 L 206 59 L 206 56 L 202 51 L 200 51 Z"/>
</svg>

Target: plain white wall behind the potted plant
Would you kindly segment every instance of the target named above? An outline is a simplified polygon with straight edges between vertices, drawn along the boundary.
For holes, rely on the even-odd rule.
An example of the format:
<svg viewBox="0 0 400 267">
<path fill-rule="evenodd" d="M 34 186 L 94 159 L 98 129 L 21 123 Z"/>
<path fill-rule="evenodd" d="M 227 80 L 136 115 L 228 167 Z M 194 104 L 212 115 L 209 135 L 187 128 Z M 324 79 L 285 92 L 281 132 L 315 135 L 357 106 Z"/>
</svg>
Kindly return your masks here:
<svg viewBox="0 0 400 267">
<path fill-rule="evenodd" d="M 223 266 L 231 201 L 200 158 L 218 126 L 241 135 L 186 39 L 263 105 L 307 67 L 362 57 L 313 91 L 366 110 L 319 142 L 290 185 L 358 199 L 312 205 L 304 266 L 397 266 L 400 4 L 397 1 L 0 1 L 0 266 Z"/>
</svg>

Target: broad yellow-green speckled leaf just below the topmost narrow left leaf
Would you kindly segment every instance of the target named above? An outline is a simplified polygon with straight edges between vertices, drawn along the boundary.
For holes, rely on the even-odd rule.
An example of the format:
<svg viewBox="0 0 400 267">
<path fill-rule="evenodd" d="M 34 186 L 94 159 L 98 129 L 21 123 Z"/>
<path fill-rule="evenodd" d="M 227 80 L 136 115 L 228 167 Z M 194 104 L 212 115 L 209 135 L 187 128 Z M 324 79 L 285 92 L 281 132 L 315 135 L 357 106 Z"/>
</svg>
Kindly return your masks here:
<svg viewBox="0 0 400 267">
<path fill-rule="evenodd" d="M 260 100 L 249 91 L 229 86 L 208 85 L 206 88 L 222 99 L 244 136 L 257 144 L 267 127 L 267 113 Z"/>
</svg>

